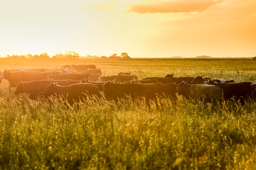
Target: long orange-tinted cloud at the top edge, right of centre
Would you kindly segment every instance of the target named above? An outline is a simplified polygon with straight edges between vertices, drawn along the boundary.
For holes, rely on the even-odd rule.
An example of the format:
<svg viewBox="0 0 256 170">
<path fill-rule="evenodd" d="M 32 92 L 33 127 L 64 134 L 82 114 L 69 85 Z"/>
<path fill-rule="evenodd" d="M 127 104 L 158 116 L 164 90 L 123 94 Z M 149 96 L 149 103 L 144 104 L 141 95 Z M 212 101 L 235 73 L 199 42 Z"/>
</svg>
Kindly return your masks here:
<svg viewBox="0 0 256 170">
<path fill-rule="evenodd" d="M 203 12 L 225 0 L 164 0 L 131 4 L 129 12 L 135 13 L 190 13 Z"/>
</svg>

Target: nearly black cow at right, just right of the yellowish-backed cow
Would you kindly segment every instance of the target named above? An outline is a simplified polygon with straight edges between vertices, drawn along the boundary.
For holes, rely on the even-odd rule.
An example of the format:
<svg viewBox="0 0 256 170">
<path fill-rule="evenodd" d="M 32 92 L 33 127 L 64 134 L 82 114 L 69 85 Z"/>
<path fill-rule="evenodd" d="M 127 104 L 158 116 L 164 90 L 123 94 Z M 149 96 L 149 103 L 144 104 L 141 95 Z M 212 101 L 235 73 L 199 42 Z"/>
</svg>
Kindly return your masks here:
<svg viewBox="0 0 256 170">
<path fill-rule="evenodd" d="M 238 100 L 242 105 L 244 105 L 244 99 L 252 97 L 252 88 L 249 82 L 229 82 L 215 84 L 223 88 L 223 95 L 225 100 Z"/>
</svg>

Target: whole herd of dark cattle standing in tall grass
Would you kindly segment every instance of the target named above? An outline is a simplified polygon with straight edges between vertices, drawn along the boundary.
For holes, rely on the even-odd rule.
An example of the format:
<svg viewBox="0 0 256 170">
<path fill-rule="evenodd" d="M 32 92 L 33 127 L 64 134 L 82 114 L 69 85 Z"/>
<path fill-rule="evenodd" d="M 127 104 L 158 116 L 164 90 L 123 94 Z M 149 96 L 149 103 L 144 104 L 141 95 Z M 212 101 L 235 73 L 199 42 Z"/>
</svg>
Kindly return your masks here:
<svg viewBox="0 0 256 170">
<path fill-rule="evenodd" d="M 205 102 L 234 99 L 245 104 L 245 99 L 256 100 L 256 84 L 227 79 L 212 79 L 200 76 L 144 77 L 120 72 L 117 75 L 102 75 L 95 65 L 65 65 L 61 68 L 15 69 L 0 72 L 0 83 L 7 79 L 9 90 L 14 94 L 27 93 L 31 99 L 56 97 L 70 105 L 85 101 L 88 97 L 104 96 L 118 102 L 130 96 L 132 99 L 156 100 L 159 97 L 177 101 L 177 95 L 186 99 Z"/>
</svg>

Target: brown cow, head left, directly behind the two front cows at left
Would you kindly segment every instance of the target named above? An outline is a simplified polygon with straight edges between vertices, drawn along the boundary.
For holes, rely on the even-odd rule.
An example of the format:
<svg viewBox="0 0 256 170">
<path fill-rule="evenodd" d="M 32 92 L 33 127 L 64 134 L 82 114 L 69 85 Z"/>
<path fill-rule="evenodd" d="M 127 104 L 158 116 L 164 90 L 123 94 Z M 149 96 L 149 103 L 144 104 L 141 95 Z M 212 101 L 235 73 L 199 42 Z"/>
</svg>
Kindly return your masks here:
<svg viewBox="0 0 256 170">
<path fill-rule="evenodd" d="M 67 74 L 61 74 L 61 75 L 49 75 L 49 79 L 58 79 L 58 80 L 67 80 L 67 79 L 72 79 L 72 80 L 79 80 L 81 81 L 83 78 L 89 79 L 92 82 L 94 82 L 94 79 L 92 77 L 91 73 L 67 73 Z"/>
</svg>

